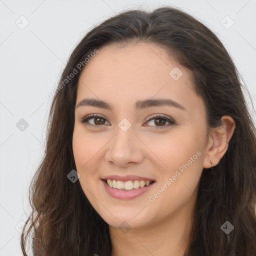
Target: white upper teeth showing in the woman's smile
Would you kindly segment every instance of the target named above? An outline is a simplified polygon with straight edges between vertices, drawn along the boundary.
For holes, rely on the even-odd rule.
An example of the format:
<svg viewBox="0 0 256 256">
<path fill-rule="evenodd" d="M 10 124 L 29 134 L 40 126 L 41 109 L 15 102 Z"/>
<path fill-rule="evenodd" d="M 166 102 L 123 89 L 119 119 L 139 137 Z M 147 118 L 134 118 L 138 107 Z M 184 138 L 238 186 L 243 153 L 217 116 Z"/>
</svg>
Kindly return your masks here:
<svg viewBox="0 0 256 256">
<path fill-rule="evenodd" d="M 153 181 L 149 181 L 149 180 L 129 180 L 129 181 L 121 181 L 121 180 L 111 180 L 111 179 L 107 179 L 106 183 L 113 188 L 116 189 L 126 189 L 126 190 L 132 190 L 132 189 L 137 189 L 139 187 L 144 187 L 144 186 L 148 186 L 151 182 Z"/>
</svg>

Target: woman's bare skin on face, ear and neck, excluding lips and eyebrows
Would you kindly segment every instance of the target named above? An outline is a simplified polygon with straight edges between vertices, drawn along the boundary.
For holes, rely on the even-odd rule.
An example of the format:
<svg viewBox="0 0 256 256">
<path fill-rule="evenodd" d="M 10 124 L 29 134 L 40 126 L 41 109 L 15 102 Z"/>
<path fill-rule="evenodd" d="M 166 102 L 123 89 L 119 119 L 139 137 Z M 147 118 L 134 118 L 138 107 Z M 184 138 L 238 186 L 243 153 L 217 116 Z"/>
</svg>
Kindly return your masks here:
<svg viewBox="0 0 256 256">
<path fill-rule="evenodd" d="M 177 80 L 169 75 L 174 67 L 182 71 Z M 94 106 L 75 108 L 73 131 L 79 182 L 109 224 L 111 256 L 181 256 L 185 251 L 202 169 L 211 167 L 210 159 L 218 164 L 235 127 L 234 120 L 225 115 L 222 126 L 207 134 L 205 105 L 192 87 L 188 70 L 160 46 L 145 43 L 101 47 L 79 77 L 76 104 L 91 97 L 114 106 L 112 111 Z M 186 110 L 173 106 L 134 110 L 136 100 L 147 98 L 169 98 Z M 105 119 L 79 122 L 92 113 Z M 157 118 L 145 121 L 151 114 L 167 115 L 175 124 L 168 126 L 166 121 L 161 128 Z M 125 132 L 118 126 L 123 118 L 131 124 Z M 158 198 L 149 201 L 198 151 L 200 155 L 189 167 L 179 171 Z M 156 183 L 134 199 L 117 199 L 105 191 L 101 181 L 111 174 L 151 177 Z M 127 229 L 119 228 L 121 223 Z"/>
</svg>

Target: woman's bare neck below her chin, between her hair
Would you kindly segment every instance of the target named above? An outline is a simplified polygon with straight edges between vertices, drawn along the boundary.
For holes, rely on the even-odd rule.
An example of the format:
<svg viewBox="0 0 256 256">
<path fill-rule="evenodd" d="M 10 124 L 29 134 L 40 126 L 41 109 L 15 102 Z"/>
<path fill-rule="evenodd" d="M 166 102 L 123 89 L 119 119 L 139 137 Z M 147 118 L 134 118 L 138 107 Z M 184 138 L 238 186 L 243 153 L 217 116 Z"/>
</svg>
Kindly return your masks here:
<svg viewBox="0 0 256 256">
<path fill-rule="evenodd" d="M 189 240 L 194 200 L 160 222 L 150 223 L 126 232 L 109 225 L 111 256 L 183 256 Z"/>
</svg>

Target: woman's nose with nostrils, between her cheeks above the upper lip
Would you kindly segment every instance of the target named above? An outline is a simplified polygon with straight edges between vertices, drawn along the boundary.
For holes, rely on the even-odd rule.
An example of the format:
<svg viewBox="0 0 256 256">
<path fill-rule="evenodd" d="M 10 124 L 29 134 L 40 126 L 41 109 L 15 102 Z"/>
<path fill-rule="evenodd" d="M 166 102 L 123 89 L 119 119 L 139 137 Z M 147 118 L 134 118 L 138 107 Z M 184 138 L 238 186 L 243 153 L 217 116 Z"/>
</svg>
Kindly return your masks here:
<svg viewBox="0 0 256 256">
<path fill-rule="evenodd" d="M 117 127 L 116 134 L 108 143 L 106 161 L 118 167 L 125 167 L 131 162 L 140 163 L 143 158 L 143 143 L 133 133 L 133 129 L 123 131 Z"/>
</svg>

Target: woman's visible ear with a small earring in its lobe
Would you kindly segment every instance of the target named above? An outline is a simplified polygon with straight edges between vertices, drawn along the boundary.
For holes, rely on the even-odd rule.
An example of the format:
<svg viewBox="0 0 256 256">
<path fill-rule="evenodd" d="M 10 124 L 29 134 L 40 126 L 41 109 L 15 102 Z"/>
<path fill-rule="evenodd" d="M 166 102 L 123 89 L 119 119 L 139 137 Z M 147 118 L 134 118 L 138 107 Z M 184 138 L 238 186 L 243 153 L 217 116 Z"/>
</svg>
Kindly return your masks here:
<svg viewBox="0 0 256 256">
<path fill-rule="evenodd" d="M 212 167 L 210 162 L 211 159 L 213 166 L 218 164 L 222 156 L 225 154 L 228 142 L 233 135 L 235 128 L 234 119 L 229 115 L 223 115 L 221 117 L 221 122 L 221 126 L 210 132 L 206 154 L 203 161 L 203 168 Z"/>
</svg>

